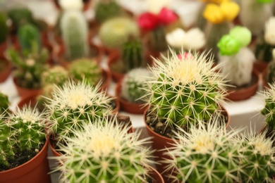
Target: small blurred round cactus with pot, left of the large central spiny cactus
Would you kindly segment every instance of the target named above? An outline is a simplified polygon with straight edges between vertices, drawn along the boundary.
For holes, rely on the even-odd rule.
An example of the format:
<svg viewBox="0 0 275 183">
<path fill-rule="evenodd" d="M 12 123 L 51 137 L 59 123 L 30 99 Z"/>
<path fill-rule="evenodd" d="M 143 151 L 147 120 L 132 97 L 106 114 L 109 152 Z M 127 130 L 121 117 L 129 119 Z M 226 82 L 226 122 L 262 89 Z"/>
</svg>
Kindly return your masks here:
<svg viewBox="0 0 275 183">
<path fill-rule="evenodd" d="M 123 79 L 116 84 L 116 97 L 121 109 L 128 113 L 143 114 L 146 110 L 144 101 L 145 82 L 149 81 L 151 72 L 147 68 L 135 68 L 127 72 Z"/>
</svg>

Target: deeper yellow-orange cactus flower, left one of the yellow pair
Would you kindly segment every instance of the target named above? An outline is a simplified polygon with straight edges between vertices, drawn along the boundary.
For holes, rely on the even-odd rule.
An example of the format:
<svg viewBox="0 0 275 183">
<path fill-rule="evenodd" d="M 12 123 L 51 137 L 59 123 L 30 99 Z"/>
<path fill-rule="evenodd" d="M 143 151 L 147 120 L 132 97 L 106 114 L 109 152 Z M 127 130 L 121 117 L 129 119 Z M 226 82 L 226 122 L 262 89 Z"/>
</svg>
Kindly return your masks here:
<svg viewBox="0 0 275 183">
<path fill-rule="evenodd" d="M 221 8 L 216 4 L 207 4 L 203 12 L 204 18 L 210 23 L 222 23 L 224 21 L 224 13 Z"/>
</svg>

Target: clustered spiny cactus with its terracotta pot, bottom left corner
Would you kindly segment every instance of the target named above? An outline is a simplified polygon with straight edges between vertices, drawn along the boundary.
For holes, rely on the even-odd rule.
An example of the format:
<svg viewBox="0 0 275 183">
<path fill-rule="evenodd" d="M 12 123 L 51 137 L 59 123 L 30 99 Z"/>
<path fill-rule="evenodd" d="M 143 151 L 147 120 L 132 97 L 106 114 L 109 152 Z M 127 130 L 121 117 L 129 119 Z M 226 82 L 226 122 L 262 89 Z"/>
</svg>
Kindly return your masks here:
<svg viewBox="0 0 275 183">
<path fill-rule="evenodd" d="M 17 108 L 1 118 L 0 182 L 50 182 L 44 113 Z"/>
</svg>

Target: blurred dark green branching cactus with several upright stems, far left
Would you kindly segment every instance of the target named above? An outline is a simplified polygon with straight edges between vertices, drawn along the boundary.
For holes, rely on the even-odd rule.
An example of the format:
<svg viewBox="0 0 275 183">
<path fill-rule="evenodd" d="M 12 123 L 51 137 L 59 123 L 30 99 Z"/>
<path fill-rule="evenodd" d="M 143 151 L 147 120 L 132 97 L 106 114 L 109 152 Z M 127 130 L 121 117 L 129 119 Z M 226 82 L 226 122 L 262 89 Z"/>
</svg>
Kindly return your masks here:
<svg viewBox="0 0 275 183">
<path fill-rule="evenodd" d="M 45 49 L 39 51 L 38 45 L 33 42 L 32 49 L 25 50 L 20 55 L 15 49 L 8 49 L 7 56 L 16 70 L 13 75 L 20 87 L 27 89 L 39 89 L 41 87 L 42 72 L 47 69 L 45 61 L 48 52 Z"/>
</svg>

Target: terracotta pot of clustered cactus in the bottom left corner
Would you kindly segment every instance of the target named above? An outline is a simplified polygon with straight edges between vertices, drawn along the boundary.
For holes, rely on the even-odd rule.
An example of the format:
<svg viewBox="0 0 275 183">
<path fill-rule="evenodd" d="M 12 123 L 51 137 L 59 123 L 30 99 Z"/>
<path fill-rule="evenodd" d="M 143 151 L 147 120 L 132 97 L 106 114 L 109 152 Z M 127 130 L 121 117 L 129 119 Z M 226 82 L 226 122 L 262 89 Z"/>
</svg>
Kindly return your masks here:
<svg viewBox="0 0 275 183">
<path fill-rule="evenodd" d="M 19 165 L 11 170 L 0 172 L 1 183 L 18 183 L 18 182 L 51 182 L 49 176 L 49 163 L 47 159 L 48 154 L 47 138 L 43 148 L 35 157 L 27 161 L 23 165 Z"/>
</svg>

